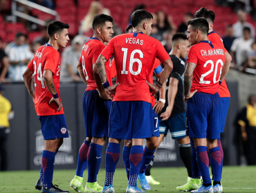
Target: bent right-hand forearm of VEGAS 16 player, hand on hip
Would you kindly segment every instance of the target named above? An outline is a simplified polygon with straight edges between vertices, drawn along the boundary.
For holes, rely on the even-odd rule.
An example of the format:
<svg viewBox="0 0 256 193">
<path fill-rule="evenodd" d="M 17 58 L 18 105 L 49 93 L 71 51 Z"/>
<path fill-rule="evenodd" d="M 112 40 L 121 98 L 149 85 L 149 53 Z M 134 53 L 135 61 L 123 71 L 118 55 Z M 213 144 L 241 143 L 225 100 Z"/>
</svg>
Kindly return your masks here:
<svg viewBox="0 0 256 193">
<path fill-rule="evenodd" d="M 166 79 L 169 77 L 169 75 L 172 72 L 173 64 L 171 59 L 165 60 L 163 62 L 163 65 L 165 68 L 163 69 L 162 74 L 159 77 L 156 85 L 152 85 L 151 83 L 147 82 L 150 88 L 150 92 L 152 92 L 152 94 L 156 94 L 157 92 L 159 92 L 159 90 L 163 86 L 163 83 L 165 83 Z"/>
</svg>

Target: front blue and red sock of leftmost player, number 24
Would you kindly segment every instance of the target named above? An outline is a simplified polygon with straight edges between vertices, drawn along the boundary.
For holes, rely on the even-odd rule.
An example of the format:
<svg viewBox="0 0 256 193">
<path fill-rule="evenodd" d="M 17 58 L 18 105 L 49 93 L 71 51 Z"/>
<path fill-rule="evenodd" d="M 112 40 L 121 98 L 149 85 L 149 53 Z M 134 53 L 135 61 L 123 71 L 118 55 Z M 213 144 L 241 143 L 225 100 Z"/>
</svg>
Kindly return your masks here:
<svg viewBox="0 0 256 193">
<path fill-rule="evenodd" d="M 53 183 L 54 160 L 55 160 L 55 152 L 49 152 L 44 150 L 42 154 L 43 186 L 46 189 L 51 188 Z"/>
</svg>

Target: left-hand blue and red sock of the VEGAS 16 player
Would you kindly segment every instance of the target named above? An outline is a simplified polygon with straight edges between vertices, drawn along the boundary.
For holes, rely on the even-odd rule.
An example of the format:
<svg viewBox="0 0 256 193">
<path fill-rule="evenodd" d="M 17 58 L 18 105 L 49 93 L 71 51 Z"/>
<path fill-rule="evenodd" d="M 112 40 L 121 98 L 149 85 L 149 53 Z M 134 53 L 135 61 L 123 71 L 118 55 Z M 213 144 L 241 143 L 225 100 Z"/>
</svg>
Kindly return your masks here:
<svg viewBox="0 0 256 193">
<path fill-rule="evenodd" d="M 109 143 L 106 151 L 106 178 L 104 186 L 113 184 L 113 174 L 116 170 L 116 164 L 118 163 L 120 156 L 119 143 Z"/>
</svg>

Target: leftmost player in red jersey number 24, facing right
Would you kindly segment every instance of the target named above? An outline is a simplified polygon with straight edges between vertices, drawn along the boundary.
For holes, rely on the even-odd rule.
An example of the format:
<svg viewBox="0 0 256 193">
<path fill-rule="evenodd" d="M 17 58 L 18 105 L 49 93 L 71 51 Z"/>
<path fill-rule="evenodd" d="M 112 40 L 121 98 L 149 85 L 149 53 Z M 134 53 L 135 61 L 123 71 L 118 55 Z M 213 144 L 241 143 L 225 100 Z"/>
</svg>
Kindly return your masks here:
<svg viewBox="0 0 256 193">
<path fill-rule="evenodd" d="M 60 21 L 49 23 L 47 32 L 50 40 L 35 52 L 33 60 L 28 63 L 23 74 L 28 93 L 35 103 L 44 136 L 42 167 L 39 181 L 35 185 L 36 189 L 41 188 L 42 192 L 68 192 L 53 185 L 55 154 L 62 145 L 63 138 L 68 137 L 60 99 L 60 54 L 57 52 L 68 43 L 68 28 L 67 23 Z"/>
</svg>

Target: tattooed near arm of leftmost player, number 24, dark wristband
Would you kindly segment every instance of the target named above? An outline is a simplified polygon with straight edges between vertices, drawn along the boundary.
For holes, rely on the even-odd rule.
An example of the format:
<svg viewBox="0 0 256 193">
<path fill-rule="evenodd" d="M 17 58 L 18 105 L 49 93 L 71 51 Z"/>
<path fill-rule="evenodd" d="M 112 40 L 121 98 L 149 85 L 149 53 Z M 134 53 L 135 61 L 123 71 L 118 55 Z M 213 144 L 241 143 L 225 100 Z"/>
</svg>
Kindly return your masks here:
<svg viewBox="0 0 256 193">
<path fill-rule="evenodd" d="M 59 95 L 57 94 L 54 81 L 53 81 L 53 72 L 51 70 L 44 70 L 44 82 L 46 83 L 46 87 L 48 88 L 48 91 L 53 95 L 53 98 L 49 101 L 49 104 L 55 102 L 58 106 L 58 111 L 60 112 L 62 110 L 62 101 L 60 101 Z"/>
</svg>

